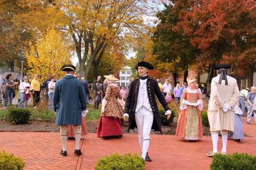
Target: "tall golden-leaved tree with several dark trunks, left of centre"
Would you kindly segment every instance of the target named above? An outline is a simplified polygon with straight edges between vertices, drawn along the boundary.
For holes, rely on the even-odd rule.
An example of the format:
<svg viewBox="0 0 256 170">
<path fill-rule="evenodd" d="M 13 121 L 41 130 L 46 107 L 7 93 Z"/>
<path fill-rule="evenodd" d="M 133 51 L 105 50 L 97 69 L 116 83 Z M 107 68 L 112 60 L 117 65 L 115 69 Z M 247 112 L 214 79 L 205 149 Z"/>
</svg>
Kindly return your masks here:
<svg viewBox="0 0 256 170">
<path fill-rule="evenodd" d="M 131 0 L 61 0 L 53 7 L 59 29 L 69 33 L 79 60 L 80 74 L 94 78 L 103 54 L 113 44 L 125 46 L 145 28 L 142 14 L 146 1 Z"/>
</svg>

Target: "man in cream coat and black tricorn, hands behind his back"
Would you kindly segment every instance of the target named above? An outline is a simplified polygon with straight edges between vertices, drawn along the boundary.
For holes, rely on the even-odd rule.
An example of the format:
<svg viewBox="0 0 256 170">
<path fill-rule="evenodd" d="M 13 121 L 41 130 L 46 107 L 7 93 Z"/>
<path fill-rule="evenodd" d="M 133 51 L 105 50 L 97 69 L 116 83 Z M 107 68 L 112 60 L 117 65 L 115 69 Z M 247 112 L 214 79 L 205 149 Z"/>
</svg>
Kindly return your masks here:
<svg viewBox="0 0 256 170">
<path fill-rule="evenodd" d="M 212 157 L 217 151 L 218 133 L 222 135 L 222 151 L 226 154 L 228 131 L 234 131 L 234 106 L 239 99 L 237 80 L 226 75 L 227 64 L 215 65 L 218 76 L 211 80 L 211 94 L 208 105 L 213 151 L 206 156 Z"/>
</svg>

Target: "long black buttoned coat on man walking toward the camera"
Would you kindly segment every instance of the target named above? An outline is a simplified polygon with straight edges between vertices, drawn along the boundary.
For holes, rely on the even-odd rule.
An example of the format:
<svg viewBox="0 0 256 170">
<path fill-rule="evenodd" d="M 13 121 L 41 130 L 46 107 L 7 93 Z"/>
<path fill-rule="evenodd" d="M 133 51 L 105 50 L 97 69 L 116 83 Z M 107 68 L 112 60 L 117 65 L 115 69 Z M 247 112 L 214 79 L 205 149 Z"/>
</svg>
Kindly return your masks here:
<svg viewBox="0 0 256 170">
<path fill-rule="evenodd" d="M 161 105 L 163 106 L 163 108 L 165 109 L 165 111 L 169 110 L 169 107 L 165 101 L 163 94 L 161 93 L 161 90 L 158 86 L 157 81 L 148 77 L 146 84 L 147 84 L 146 87 L 147 87 L 148 100 L 150 101 L 150 105 L 154 113 L 154 121 L 153 121 L 152 129 L 154 129 L 155 131 L 160 131 L 162 134 L 156 96 L 159 102 L 161 103 Z M 140 85 L 140 81 L 138 78 L 131 82 L 131 86 L 130 86 L 129 93 L 128 93 L 125 107 L 124 107 L 124 113 L 129 114 L 129 129 L 134 129 L 137 127 L 135 122 L 135 109 L 136 109 L 138 93 L 139 93 L 139 85 Z M 129 132 L 129 129 L 128 129 L 128 132 Z"/>
</svg>

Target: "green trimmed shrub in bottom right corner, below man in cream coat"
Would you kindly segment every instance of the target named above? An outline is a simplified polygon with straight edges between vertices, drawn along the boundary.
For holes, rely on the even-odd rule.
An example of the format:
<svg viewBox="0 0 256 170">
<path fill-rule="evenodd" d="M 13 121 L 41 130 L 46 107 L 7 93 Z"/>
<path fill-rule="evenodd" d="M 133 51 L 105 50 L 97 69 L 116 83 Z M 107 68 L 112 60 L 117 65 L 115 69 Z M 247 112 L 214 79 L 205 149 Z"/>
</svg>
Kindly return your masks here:
<svg viewBox="0 0 256 170">
<path fill-rule="evenodd" d="M 256 157 L 248 154 L 214 155 L 210 164 L 211 170 L 254 170 L 256 169 Z"/>
</svg>

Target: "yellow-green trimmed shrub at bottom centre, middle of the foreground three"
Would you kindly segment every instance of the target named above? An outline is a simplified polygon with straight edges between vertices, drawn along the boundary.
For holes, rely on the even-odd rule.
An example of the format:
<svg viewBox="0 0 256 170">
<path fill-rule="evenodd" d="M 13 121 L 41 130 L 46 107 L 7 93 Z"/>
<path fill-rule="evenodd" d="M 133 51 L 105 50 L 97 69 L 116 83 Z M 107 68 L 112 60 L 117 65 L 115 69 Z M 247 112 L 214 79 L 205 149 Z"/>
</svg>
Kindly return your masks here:
<svg viewBox="0 0 256 170">
<path fill-rule="evenodd" d="M 95 166 L 96 170 L 144 170 L 145 162 L 137 154 L 112 154 L 99 158 L 99 162 Z"/>
</svg>

